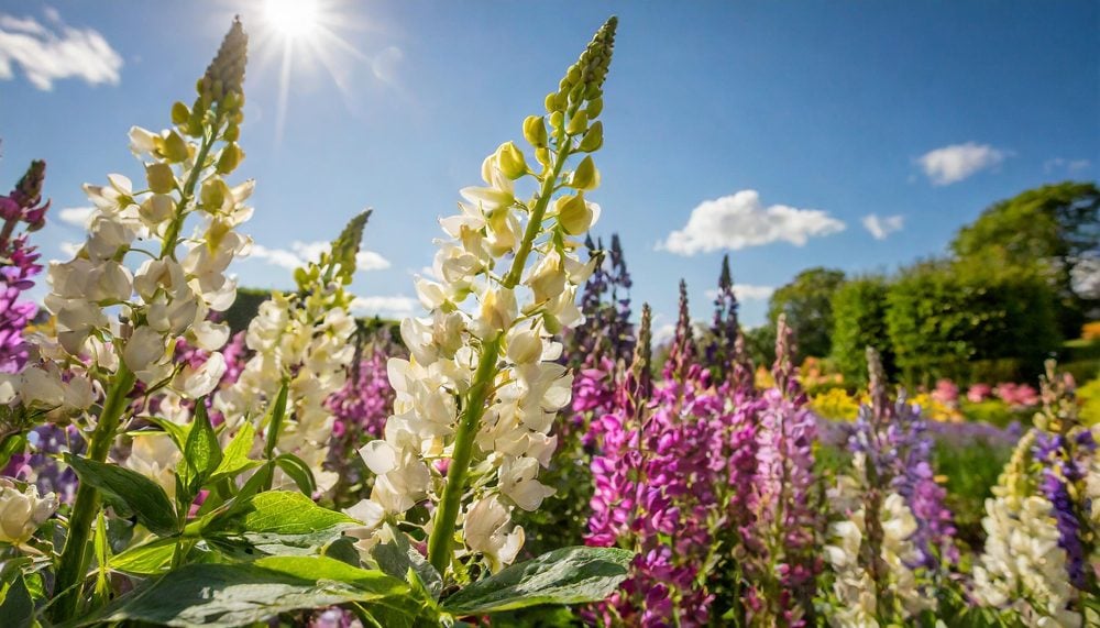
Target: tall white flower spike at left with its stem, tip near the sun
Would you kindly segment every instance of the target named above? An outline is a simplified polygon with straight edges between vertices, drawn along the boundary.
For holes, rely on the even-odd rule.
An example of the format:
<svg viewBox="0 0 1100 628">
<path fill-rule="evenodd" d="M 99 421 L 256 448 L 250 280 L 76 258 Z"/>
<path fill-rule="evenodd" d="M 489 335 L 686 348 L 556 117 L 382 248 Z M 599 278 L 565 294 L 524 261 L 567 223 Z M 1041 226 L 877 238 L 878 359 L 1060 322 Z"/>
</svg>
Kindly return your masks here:
<svg viewBox="0 0 1100 628">
<path fill-rule="evenodd" d="M 58 379 L 61 368 L 68 368 L 73 376 L 63 382 L 66 386 L 100 381 L 106 396 L 98 416 L 87 421 L 95 425 L 87 458 L 97 462 L 107 459 L 123 416 L 131 411 L 128 398 L 138 382 L 144 386 L 139 389 L 194 401 L 208 395 L 226 372 L 224 356 L 217 350 L 228 340 L 229 328 L 208 315 L 224 311 L 237 298 L 237 282 L 227 269 L 251 242 L 235 228 L 252 216 L 244 201 L 253 184 L 230 187 L 223 178 L 243 158 L 237 140 L 246 43 L 240 22 L 234 22 L 198 81 L 196 107 L 173 106 L 172 129 L 131 129 L 131 151 L 145 166 L 145 180 L 134 186 L 122 175 L 108 175 L 106 186 L 85 186 L 96 206 L 88 238 L 74 260 L 50 268 L 52 290 L 45 305 L 56 317 L 61 349 L 43 345 L 53 360 L 35 368 L 56 371 Z M 185 233 L 193 216 L 198 224 Z M 158 240 L 160 253 L 135 246 L 141 240 Z M 144 261 L 127 264 L 130 253 L 141 253 Z M 198 367 L 177 364 L 180 339 L 211 352 L 208 361 Z M 75 409 L 91 406 L 90 384 L 88 388 Z M 68 619 L 77 610 L 80 591 L 75 585 L 87 571 L 89 533 L 99 506 L 98 491 L 81 484 L 57 571 L 54 619 Z"/>
</svg>

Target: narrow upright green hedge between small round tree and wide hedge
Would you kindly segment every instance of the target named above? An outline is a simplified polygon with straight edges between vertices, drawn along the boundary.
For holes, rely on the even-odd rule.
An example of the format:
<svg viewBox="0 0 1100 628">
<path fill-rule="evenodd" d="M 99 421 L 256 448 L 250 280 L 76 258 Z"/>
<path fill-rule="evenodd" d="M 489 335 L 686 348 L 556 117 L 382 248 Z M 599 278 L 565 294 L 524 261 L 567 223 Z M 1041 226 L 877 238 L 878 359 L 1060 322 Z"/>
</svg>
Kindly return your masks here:
<svg viewBox="0 0 1100 628">
<path fill-rule="evenodd" d="M 833 360 L 845 383 L 867 383 L 867 348 L 882 359 L 887 375 L 894 373 L 893 348 L 887 334 L 884 277 L 858 277 L 845 282 L 833 295 Z"/>
</svg>

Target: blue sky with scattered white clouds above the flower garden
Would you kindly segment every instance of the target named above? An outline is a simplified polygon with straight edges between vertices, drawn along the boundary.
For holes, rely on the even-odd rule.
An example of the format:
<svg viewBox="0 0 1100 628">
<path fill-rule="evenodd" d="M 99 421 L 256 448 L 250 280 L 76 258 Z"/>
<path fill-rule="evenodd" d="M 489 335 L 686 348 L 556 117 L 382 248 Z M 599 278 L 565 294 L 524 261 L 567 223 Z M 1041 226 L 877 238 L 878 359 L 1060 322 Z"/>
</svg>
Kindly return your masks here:
<svg viewBox="0 0 1100 628">
<path fill-rule="evenodd" d="M 324 40 L 322 62 L 295 45 L 282 131 L 263 4 L 0 1 L 0 179 L 48 161 L 47 257 L 80 238 L 61 220 L 88 205 L 80 184 L 140 173 L 127 131 L 190 102 L 233 13 L 256 44 L 239 174 L 257 180 L 245 231 L 266 252 L 237 265 L 241 284 L 289 287 L 279 262 L 373 207 L 364 311 L 416 307 L 436 219 L 613 13 L 595 233 L 620 234 L 660 324 L 681 277 L 710 316 L 724 252 L 757 324 L 803 268 L 941 254 L 991 202 L 1100 165 L 1094 2 L 322 0 L 348 46 Z"/>
</svg>

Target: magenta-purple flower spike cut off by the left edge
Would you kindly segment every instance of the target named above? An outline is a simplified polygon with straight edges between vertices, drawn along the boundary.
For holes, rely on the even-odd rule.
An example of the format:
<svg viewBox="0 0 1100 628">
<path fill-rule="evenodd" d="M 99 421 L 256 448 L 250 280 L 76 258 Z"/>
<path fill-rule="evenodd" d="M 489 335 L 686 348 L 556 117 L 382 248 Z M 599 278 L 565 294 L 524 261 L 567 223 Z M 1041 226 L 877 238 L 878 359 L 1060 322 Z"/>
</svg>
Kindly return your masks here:
<svg viewBox="0 0 1100 628">
<path fill-rule="evenodd" d="M 50 202 L 42 202 L 46 163 L 31 162 L 26 174 L 8 196 L 0 196 L 0 373 L 18 373 L 28 360 L 23 329 L 37 313 L 32 301 L 20 300 L 42 272 L 38 253 L 28 233 L 45 225 Z M 41 205 L 40 205 L 41 203 Z M 20 232 L 20 225 L 24 231 Z"/>
</svg>

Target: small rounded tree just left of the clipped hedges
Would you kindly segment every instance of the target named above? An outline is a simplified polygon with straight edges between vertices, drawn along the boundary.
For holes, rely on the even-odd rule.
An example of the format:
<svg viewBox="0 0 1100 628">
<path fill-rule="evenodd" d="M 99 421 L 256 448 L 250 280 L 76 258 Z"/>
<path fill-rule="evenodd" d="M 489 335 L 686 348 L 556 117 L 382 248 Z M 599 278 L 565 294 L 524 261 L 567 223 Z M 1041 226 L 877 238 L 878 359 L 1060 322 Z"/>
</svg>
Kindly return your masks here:
<svg viewBox="0 0 1100 628">
<path fill-rule="evenodd" d="M 795 360 L 829 354 L 833 333 L 833 293 L 844 283 L 844 272 L 817 266 L 799 273 L 794 280 L 776 290 L 768 304 L 768 320 L 774 327 L 779 315 L 794 331 Z"/>
</svg>

